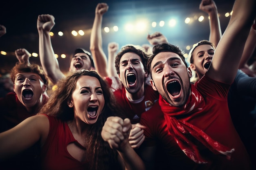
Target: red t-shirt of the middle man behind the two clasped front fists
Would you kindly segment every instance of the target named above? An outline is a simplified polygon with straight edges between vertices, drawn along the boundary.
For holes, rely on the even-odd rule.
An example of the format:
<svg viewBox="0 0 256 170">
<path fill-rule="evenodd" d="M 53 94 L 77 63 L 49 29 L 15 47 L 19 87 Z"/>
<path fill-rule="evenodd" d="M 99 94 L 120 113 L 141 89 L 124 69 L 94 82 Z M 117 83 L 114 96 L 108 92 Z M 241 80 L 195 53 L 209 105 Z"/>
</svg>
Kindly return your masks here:
<svg viewBox="0 0 256 170">
<path fill-rule="evenodd" d="M 141 113 L 149 110 L 159 98 L 159 93 L 146 84 L 144 87 L 144 99 L 139 103 L 132 103 L 126 97 L 125 88 L 117 77 L 106 77 L 106 81 L 110 85 L 118 104 L 125 111 L 132 124 L 139 123 Z"/>
</svg>

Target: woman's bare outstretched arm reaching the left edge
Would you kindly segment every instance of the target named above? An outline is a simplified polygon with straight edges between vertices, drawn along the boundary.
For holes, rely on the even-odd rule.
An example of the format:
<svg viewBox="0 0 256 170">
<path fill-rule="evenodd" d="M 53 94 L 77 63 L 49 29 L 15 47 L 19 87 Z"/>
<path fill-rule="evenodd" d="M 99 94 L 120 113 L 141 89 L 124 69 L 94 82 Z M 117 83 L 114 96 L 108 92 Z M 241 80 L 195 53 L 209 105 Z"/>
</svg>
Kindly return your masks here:
<svg viewBox="0 0 256 170">
<path fill-rule="evenodd" d="M 48 132 L 49 119 L 45 115 L 36 115 L 0 133 L 0 161 L 22 152 L 39 140 L 42 146 Z"/>
</svg>

